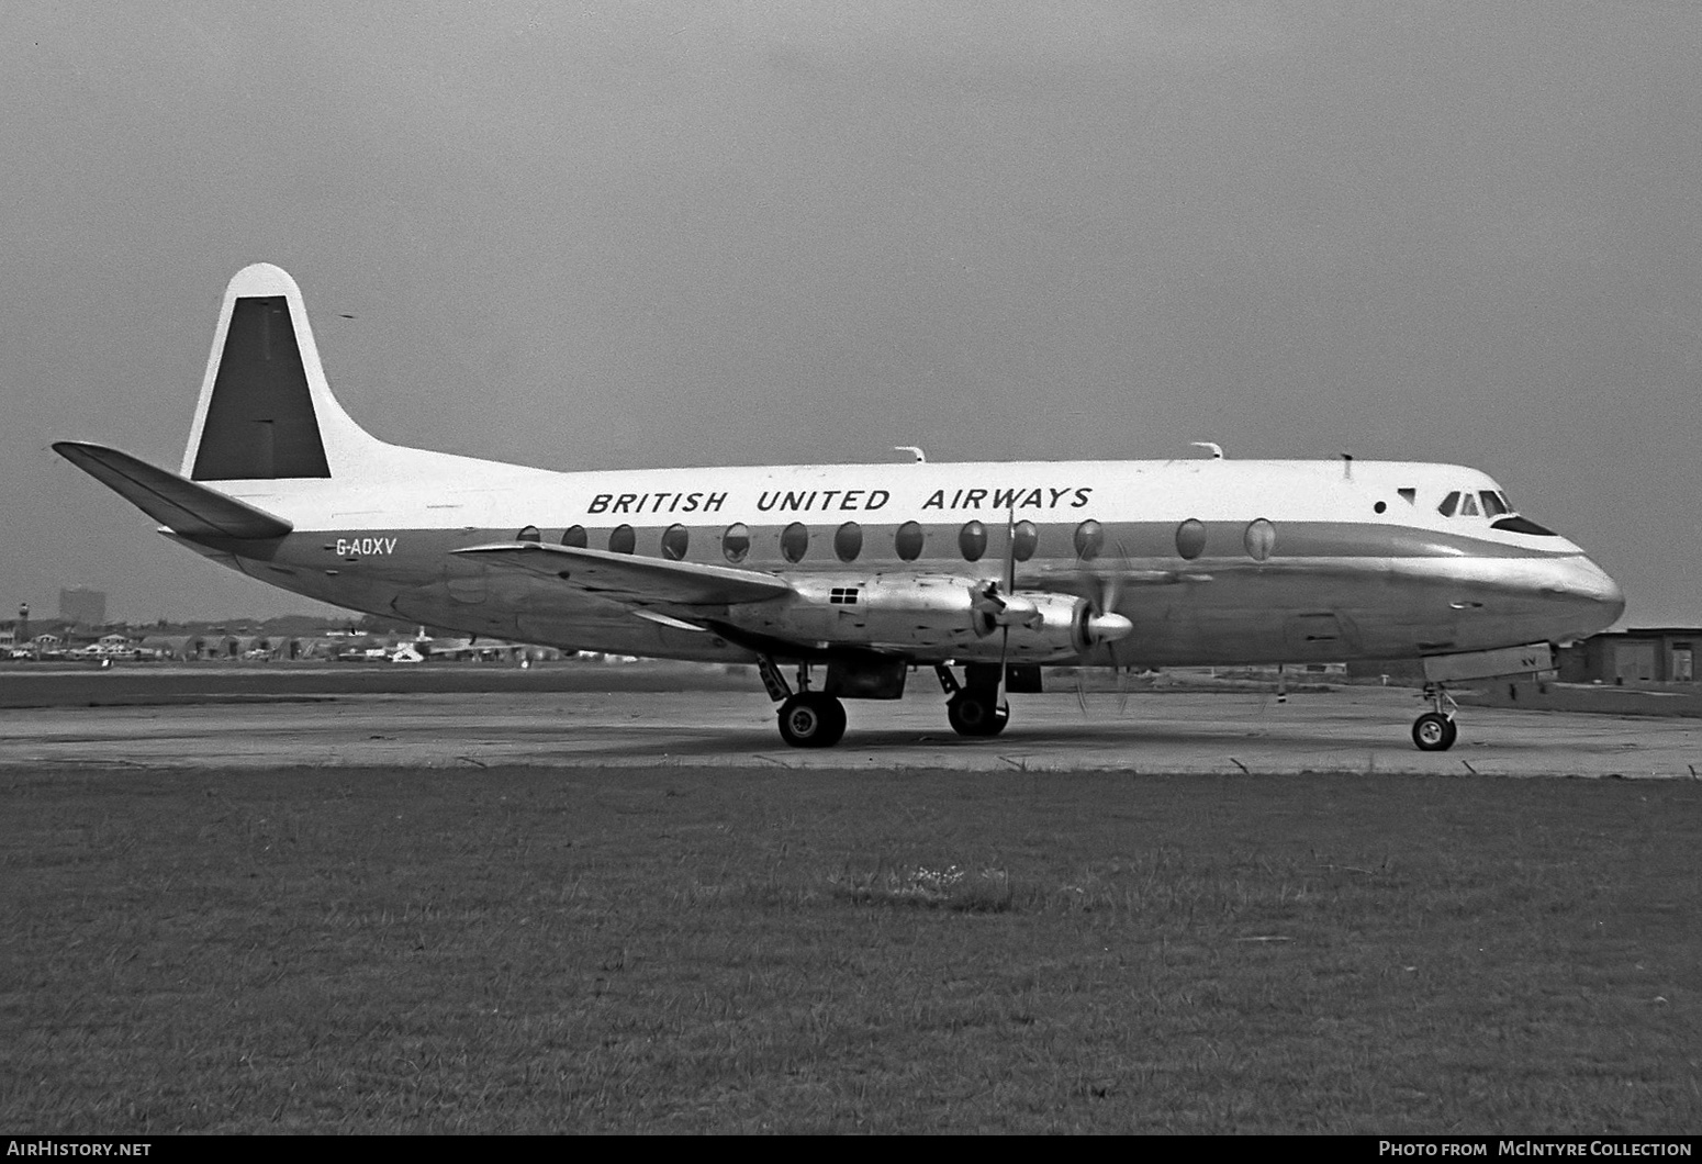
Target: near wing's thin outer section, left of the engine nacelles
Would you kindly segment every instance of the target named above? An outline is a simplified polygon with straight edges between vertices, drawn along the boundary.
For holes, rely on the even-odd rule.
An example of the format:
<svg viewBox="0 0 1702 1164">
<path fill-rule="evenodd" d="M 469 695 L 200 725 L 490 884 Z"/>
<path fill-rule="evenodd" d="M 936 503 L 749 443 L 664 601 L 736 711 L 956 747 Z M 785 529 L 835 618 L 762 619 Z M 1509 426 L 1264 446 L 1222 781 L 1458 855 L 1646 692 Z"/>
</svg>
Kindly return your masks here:
<svg viewBox="0 0 1702 1164">
<path fill-rule="evenodd" d="M 698 562 L 635 558 L 630 553 L 500 541 L 454 553 L 495 567 L 529 570 L 633 606 L 734 606 L 791 594 L 783 579 Z"/>
</svg>

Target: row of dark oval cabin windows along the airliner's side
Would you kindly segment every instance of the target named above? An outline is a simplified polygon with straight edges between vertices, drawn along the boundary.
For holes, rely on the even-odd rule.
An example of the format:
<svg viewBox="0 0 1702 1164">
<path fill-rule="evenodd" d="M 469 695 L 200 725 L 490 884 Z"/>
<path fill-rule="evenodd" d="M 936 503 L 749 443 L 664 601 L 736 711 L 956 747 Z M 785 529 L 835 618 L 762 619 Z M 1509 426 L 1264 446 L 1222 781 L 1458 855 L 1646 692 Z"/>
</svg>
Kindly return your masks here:
<svg viewBox="0 0 1702 1164">
<path fill-rule="evenodd" d="M 1040 531 L 1031 521 L 1019 521 L 1011 529 L 1013 556 L 1028 562 L 1040 548 Z M 536 526 L 526 526 L 516 534 L 517 541 L 540 541 Z M 922 556 L 922 545 L 928 534 L 921 524 L 907 521 L 892 534 L 892 548 L 904 562 L 916 562 Z M 1076 526 L 1076 556 L 1091 562 L 1105 551 L 1105 526 L 1096 521 L 1084 521 Z M 1241 536 L 1242 548 L 1254 562 L 1265 562 L 1276 550 L 1276 526 L 1259 517 L 1248 522 Z M 562 533 L 562 545 L 584 550 L 587 534 L 584 526 L 568 526 Z M 691 531 L 684 526 L 669 526 L 662 531 L 662 556 L 669 562 L 684 562 L 691 546 Z M 633 553 L 638 548 L 638 533 L 631 526 L 616 526 L 609 531 L 611 553 Z M 810 551 L 810 528 L 795 521 L 780 531 L 780 553 L 786 562 L 803 562 Z M 722 555 L 740 563 L 751 553 L 751 528 L 742 521 L 727 526 L 722 533 Z M 979 521 L 967 521 L 958 529 L 958 553 L 965 562 L 980 562 L 987 555 L 987 526 Z M 1195 560 L 1205 553 L 1205 522 L 1190 517 L 1176 526 L 1176 553 L 1186 560 Z M 834 556 L 841 562 L 856 562 L 863 556 L 863 526 L 848 521 L 834 531 Z"/>
</svg>

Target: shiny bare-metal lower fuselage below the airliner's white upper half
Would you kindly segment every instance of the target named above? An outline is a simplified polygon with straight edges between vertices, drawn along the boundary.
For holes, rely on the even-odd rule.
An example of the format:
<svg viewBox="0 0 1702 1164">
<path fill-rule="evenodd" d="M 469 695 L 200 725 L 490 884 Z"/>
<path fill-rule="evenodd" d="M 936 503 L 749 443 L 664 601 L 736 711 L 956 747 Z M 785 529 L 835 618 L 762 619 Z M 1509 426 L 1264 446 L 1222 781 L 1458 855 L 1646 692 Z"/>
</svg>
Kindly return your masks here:
<svg viewBox="0 0 1702 1164">
<path fill-rule="evenodd" d="M 294 533 L 264 546 L 187 543 L 271 585 L 335 606 L 403 618 L 470 635 L 550 647 L 706 662 L 752 662 L 754 652 L 713 631 L 635 618 L 621 602 L 553 585 L 548 579 L 465 562 L 453 550 L 512 536 L 495 531 Z M 643 531 L 640 531 L 642 536 Z M 761 528 L 757 534 L 761 534 Z M 1118 531 L 1113 528 L 1115 538 Z M 878 531 L 877 531 L 878 536 Z M 1045 533 L 1042 534 L 1045 538 Z M 1067 536 L 1060 531 L 1057 536 Z M 175 534 L 174 534 L 175 538 Z M 875 536 L 871 536 L 871 541 Z M 1134 538 L 1128 538 L 1130 541 Z M 337 553 L 337 543 L 378 545 L 383 553 Z M 260 551 L 259 555 L 255 551 Z M 242 553 L 235 553 L 242 551 Z M 807 579 L 810 589 L 868 585 L 882 577 L 931 577 L 945 585 L 997 577 L 997 563 L 974 570 L 962 560 L 846 563 L 749 562 Z M 1232 665 L 1411 659 L 1527 642 L 1569 642 L 1610 625 L 1624 599 L 1583 555 L 1499 556 L 1457 548 L 1435 556 L 1309 556 L 1254 563 L 1232 556 L 1117 556 L 1031 560 L 1018 585 L 1074 587 L 1093 597 L 1115 580 L 1117 611 L 1134 633 L 1086 659 L 1059 650 L 1033 662 L 1072 665 Z M 871 648 L 917 664 L 994 662 L 999 643 L 962 626 L 909 626 L 900 636 L 839 630 L 841 611 L 800 626 L 824 648 Z M 740 625 L 739 611 L 722 618 Z M 802 640 L 800 640 L 802 642 Z M 800 652 L 800 657 L 807 652 Z"/>
</svg>

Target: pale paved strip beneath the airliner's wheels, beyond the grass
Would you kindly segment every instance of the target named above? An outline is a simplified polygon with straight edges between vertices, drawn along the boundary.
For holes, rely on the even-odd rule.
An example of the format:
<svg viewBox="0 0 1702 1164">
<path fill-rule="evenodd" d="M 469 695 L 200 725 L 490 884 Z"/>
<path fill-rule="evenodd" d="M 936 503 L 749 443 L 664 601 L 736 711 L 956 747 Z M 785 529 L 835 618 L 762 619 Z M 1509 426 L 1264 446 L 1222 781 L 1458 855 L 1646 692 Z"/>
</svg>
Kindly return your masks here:
<svg viewBox="0 0 1702 1164">
<path fill-rule="evenodd" d="M 994 740 L 965 740 L 938 696 L 848 703 L 822 752 L 780 742 L 756 693 L 340 694 L 264 701 L 0 711 L 3 767 L 529 764 L 1128 773 L 1452 773 L 1697 778 L 1702 723 L 1465 708 L 1450 752 L 1408 735 L 1404 689 L 1328 694 L 1018 696 Z"/>
</svg>

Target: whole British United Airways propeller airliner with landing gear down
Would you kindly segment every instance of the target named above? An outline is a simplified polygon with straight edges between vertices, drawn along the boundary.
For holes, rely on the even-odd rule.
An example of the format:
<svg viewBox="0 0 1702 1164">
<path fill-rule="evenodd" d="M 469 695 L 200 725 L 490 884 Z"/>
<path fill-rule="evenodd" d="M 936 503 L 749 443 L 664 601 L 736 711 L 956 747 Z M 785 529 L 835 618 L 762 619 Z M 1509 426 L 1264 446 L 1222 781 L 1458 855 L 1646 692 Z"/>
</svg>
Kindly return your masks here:
<svg viewBox="0 0 1702 1164">
<path fill-rule="evenodd" d="M 1399 461 L 985 461 L 558 473 L 386 444 L 332 397 L 279 267 L 225 293 L 182 468 L 54 444 L 162 533 L 286 591 L 562 648 L 754 664 L 780 733 L 933 667 L 997 735 L 1045 667 L 1425 660 L 1447 684 L 1552 665 L 1613 580 L 1486 475 Z M 795 667 L 797 689 L 786 681 Z"/>
</svg>

